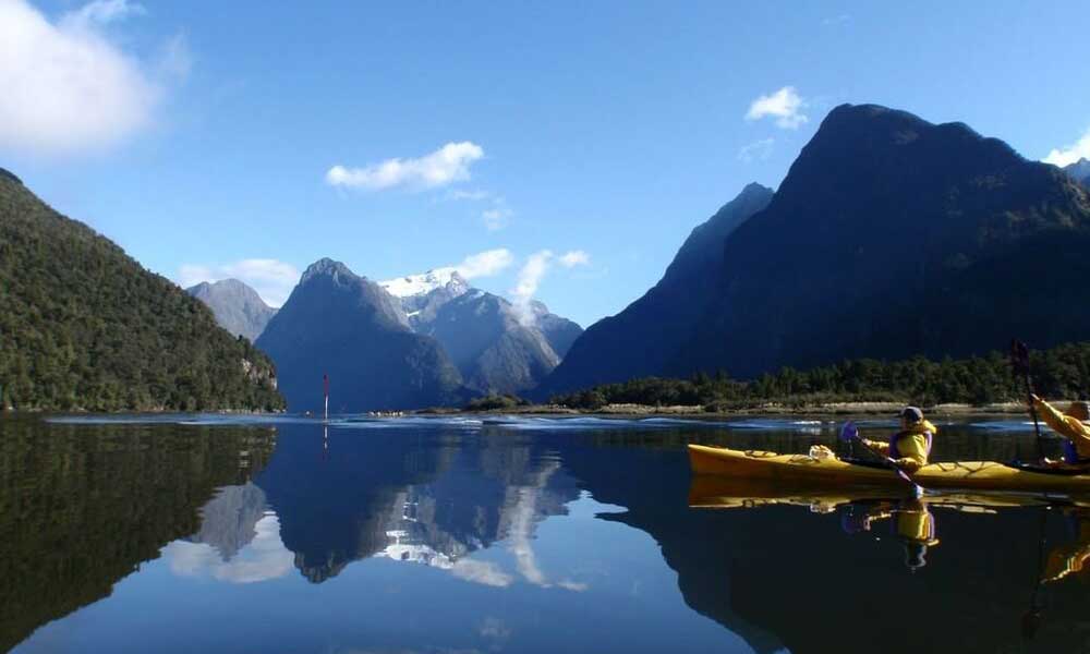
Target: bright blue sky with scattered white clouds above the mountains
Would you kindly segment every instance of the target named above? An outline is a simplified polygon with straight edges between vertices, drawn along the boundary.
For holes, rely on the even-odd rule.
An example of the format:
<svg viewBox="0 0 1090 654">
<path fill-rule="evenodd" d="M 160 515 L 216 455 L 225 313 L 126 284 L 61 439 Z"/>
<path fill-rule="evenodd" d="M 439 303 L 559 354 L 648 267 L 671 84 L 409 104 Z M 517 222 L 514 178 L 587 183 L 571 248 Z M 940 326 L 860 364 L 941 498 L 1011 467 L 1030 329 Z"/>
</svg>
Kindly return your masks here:
<svg viewBox="0 0 1090 654">
<path fill-rule="evenodd" d="M 487 252 L 585 326 L 838 104 L 1090 156 L 1087 9 L 0 0 L 0 166 L 179 281 Z"/>
</svg>

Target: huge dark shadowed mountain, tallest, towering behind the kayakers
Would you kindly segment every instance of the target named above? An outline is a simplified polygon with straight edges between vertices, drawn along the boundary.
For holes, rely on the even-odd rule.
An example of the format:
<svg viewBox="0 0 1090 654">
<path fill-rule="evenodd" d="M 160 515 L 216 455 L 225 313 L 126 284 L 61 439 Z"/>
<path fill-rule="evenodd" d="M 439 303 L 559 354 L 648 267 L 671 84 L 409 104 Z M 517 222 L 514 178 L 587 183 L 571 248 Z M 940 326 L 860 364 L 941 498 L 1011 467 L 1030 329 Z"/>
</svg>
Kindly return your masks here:
<svg viewBox="0 0 1090 654">
<path fill-rule="evenodd" d="M 715 301 L 662 371 L 1085 340 L 1088 251 L 1090 196 L 1056 167 L 962 123 L 843 105 L 727 239 Z"/>
</svg>

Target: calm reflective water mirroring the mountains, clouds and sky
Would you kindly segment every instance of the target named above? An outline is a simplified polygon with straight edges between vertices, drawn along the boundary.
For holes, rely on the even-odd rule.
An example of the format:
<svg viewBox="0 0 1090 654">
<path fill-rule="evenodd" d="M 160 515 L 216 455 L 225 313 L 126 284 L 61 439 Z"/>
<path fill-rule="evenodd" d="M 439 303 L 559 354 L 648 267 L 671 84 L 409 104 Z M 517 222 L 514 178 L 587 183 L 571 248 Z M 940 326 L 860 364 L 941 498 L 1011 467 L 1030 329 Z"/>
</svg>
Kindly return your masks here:
<svg viewBox="0 0 1090 654">
<path fill-rule="evenodd" d="M 1077 502 L 694 484 L 683 448 L 834 440 L 767 420 L 0 419 L 0 650 L 1090 652 Z M 1032 439 L 984 422 L 936 447 Z"/>
</svg>

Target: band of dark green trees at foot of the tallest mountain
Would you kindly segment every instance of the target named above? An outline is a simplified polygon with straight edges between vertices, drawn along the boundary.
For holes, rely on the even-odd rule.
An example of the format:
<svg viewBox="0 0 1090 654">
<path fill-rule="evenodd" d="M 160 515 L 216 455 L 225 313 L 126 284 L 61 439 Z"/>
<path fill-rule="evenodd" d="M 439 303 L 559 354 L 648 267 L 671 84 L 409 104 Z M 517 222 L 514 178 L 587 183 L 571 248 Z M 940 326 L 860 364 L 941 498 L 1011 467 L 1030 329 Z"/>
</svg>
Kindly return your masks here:
<svg viewBox="0 0 1090 654">
<path fill-rule="evenodd" d="M 1032 382 L 1044 397 L 1071 399 L 1090 390 L 1090 342 L 1031 352 Z M 838 401 L 891 401 L 920 405 L 946 402 L 990 404 L 1024 401 L 1024 382 L 1005 354 L 930 361 L 845 361 L 810 371 L 782 368 L 750 382 L 726 373 L 691 379 L 645 377 L 553 396 L 550 402 L 576 409 L 606 404 L 703 405 L 708 411 L 775 402 L 789 407 Z"/>
</svg>

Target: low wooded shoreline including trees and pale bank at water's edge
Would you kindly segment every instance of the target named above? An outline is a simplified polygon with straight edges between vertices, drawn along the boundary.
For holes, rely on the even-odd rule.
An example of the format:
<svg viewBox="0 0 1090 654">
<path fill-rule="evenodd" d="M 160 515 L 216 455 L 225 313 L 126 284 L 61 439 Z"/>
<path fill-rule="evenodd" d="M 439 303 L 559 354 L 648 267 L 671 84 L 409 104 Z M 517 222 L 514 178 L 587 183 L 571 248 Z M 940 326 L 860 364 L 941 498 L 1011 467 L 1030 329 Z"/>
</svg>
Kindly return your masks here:
<svg viewBox="0 0 1090 654">
<path fill-rule="evenodd" d="M 1090 390 L 1090 342 L 1030 353 L 1033 390 L 1054 399 L 1081 399 Z M 547 403 L 517 396 L 486 396 L 468 412 L 518 413 L 886 413 L 915 404 L 945 413 L 1017 413 L 1026 410 L 1025 380 L 1008 358 L 932 361 L 859 359 L 799 371 L 780 368 L 751 380 L 725 371 L 690 378 L 643 377 L 557 393 Z"/>
</svg>

